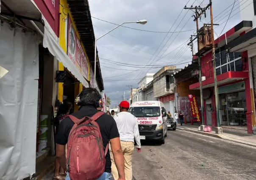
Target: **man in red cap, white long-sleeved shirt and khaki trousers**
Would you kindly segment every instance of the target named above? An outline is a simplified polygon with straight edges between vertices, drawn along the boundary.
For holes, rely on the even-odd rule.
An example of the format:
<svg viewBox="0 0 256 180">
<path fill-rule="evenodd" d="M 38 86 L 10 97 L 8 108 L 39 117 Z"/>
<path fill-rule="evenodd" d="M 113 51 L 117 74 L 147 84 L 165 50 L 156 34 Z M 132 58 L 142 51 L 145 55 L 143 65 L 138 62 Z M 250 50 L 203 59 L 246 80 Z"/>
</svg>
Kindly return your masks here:
<svg viewBox="0 0 256 180">
<path fill-rule="evenodd" d="M 120 113 L 116 114 L 114 120 L 117 122 L 117 128 L 120 134 L 122 153 L 125 158 L 125 180 L 132 180 L 131 160 L 134 153 L 134 139 L 137 143 L 136 150 L 141 152 L 141 144 L 139 139 L 139 127 L 137 119 L 134 115 L 128 112 L 130 104 L 127 101 L 122 101 L 119 104 Z M 114 157 L 110 148 L 111 156 L 111 171 L 115 180 L 118 179 L 117 167 L 114 163 Z"/>
</svg>

